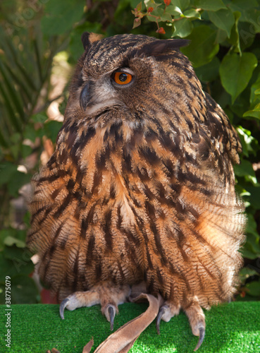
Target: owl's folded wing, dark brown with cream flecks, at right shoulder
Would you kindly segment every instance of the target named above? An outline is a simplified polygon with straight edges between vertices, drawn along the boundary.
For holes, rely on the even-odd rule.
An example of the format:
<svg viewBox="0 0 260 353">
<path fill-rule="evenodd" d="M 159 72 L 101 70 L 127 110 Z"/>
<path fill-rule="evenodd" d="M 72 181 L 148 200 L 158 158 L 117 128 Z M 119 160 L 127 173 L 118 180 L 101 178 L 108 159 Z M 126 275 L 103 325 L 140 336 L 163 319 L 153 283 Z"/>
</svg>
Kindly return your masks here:
<svg viewBox="0 0 260 353">
<path fill-rule="evenodd" d="M 209 132 L 211 138 L 218 143 L 221 154 L 228 154 L 230 160 L 233 163 L 240 163 L 240 157 L 238 152 L 242 151 L 242 145 L 240 138 L 237 135 L 237 131 L 230 124 L 228 116 L 226 116 L 223 109 L 211 98 L 211 96 L 205 92 L 207 115 L 209 124 Z"/>
</svg>

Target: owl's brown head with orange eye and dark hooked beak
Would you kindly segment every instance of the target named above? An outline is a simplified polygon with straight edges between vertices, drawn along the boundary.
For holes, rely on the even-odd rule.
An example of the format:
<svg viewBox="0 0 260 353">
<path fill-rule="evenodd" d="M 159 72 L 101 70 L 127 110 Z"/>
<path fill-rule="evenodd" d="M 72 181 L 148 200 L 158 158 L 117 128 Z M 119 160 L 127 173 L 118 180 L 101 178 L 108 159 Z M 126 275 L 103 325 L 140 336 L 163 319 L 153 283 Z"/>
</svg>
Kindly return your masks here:
<svg viewBox="0 0 260 353">
<path fill-rule="evenodd" d="M 116 112 L 117 117 L 131 121 L 148 110 L 156 114 L 163 109 L 173 111 L 178 104 L 187 106 L 190 85 L 197 89 L 190 61 L 179 50 L 188 42 L 145 35 L 101 39 L 85 32 L 85 53 L 70 88 L 66 119 L 97 121 L 104 112 Z"/>
</svg>

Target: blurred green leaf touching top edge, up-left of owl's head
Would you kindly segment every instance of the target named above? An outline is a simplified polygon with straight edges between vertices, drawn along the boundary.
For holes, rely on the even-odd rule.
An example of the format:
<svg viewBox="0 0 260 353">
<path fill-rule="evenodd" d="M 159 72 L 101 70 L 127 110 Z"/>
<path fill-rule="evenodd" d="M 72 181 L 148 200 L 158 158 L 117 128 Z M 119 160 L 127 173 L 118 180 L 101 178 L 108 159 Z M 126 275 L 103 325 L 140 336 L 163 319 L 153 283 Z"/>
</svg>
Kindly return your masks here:
<svg viewBox="0 0 260 353">
<path fill-rule="evenodd" d="M 85 0 L 48 1 L 42 17 L 44 35 L 63 35 L 70 30 L 82 18 L 84 6 Z"/>
</svg>

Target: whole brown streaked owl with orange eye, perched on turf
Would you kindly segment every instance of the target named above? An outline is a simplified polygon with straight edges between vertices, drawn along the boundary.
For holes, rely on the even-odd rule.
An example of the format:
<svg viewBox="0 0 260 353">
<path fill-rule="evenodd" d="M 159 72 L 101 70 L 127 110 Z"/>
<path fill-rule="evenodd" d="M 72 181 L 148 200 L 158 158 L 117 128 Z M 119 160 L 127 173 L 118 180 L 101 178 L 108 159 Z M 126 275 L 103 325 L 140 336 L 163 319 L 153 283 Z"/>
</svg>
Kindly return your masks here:
<svg viewBox="0 0 260 353">
<path fill-rule="evenodd" d="M 82 43 L 56 150 L 32 180 L 37 271 L 62 318 L 100 304 L 113 330 L 142 287 L 161 298 L 157 330 L 182 309 L 198 349 L 202 308 L 230 300 L 242 265 L 240 140 L 180 52 L 187 40 Z"/>
</svg>

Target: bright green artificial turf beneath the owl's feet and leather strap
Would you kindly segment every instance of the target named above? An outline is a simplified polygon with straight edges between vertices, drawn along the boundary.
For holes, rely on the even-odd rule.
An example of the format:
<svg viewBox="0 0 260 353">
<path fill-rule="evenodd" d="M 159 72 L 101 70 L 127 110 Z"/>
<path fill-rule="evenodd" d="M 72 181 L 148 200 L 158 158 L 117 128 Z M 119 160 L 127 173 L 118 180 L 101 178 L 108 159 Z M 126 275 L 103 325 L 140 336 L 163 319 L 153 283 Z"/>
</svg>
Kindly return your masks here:
<svg viewBox="0 0 260 353">
<path fill-rule="evenodd" d="M 11 306 L 11 348 L 6 342 L 6 306 L 0 306 L 0 352 L 45 353 L 56 348 L 61 353 L 82 353 L 84 345 L 94 337 L 92 352 L 111 333 L 100 306 L 65 311 L 61 320 L 58 305 L 17 304 Z M 147 304 L 126 303 L 119 306 L 115 329 L 140 315 Z M 206 336 L 199 353 L 259 353 L 260 302 L 237 301 L 206 311 Z M 192 335 L 184 313 L 161 322 L 161 335 L 155 323 L 140 335 L 130 352 L 193 352 L 197 337 Z"/>
</svg>

